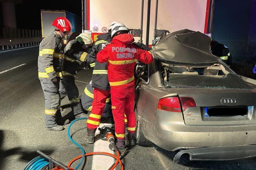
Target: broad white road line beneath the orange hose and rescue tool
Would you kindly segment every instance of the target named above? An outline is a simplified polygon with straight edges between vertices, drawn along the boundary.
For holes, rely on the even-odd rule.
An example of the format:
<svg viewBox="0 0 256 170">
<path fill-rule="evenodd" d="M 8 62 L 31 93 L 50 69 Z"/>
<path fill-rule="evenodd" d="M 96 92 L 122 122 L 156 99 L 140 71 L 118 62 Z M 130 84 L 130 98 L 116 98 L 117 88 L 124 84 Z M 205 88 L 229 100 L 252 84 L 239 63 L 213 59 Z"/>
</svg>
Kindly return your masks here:
<svg viewBox="0 0 256 170">
<path fill-rule="evenodd" d="M 111 125 L 109 123 L 101 123 L 100 128 L 105 125 Z M 95 133 L 95 136 L 100 134 L 100 131 L 97 128 L 97 131 Z M 109 142 L 104 141 L 101 139 L 98 139 L 94 143 L 94 152 L 108 152 L 114 154 L 113 151 L 109 149 Z M 93 156 L 93 165 L 91 169 L 93 170 L 106 170 L 111 167 L 111 165 L 114 163 L 115 159 L 110 156 L 104 156 L 104 155 L 94 155 Z"/>
</svg>

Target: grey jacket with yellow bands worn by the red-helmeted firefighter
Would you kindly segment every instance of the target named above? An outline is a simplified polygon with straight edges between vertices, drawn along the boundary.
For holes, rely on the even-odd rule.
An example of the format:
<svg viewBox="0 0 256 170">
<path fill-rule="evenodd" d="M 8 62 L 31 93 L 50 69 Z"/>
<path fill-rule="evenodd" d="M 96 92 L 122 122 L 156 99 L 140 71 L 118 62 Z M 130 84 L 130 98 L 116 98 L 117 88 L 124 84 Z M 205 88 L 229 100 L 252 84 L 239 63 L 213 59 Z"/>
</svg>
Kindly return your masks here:
<svg viewBox="0 0 256 170">
<path fill-rule="evenodd" d="M 53 80 L 61 77 L 63 62 L 63 44 L 61 36 L 53 32 L 46 36 L 39 45 L 38 77 L 40 80 Z"/>
</svg>

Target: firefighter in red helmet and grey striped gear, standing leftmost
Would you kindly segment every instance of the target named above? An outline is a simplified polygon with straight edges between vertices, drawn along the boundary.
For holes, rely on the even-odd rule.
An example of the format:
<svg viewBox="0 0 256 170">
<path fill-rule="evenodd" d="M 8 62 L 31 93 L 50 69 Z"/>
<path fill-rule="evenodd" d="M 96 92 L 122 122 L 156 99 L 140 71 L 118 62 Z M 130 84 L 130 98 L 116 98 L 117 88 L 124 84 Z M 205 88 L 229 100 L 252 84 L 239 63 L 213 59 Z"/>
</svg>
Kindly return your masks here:
<svg viewBox="0 0 256 170">
<path fill-rule="evenodd" d="M 60 113 L 60 101 L 66 96 L 61 83 L 61 66 L 63 62 L 62 38 L 69 34 L 72 25 L 64 17 L 56 18 L 52 26 L 55 30 L 46 36 L 39 46 L 38 77 L 45 97 L 45 128 L 46 130 L 61 131 L 62 125 L 57 120 L 62 119 Z M 62 124 L 69 123 L 69 120 Z"/>
</svg>

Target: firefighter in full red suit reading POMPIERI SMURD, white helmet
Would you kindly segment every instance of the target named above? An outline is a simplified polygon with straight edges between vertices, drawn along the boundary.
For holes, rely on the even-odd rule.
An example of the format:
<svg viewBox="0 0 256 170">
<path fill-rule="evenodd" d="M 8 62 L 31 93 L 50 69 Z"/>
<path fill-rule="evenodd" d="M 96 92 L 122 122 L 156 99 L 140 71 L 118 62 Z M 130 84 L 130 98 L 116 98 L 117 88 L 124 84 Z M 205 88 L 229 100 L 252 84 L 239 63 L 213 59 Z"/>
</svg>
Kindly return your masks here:
<svg viewBox="0 0 256 170">
<path fill-rule="evenodd" d="M 132 44 L 134 38 L 128 33 L 129 31 L 123 23 L 114 24 L 111 31 L 113 40 L 97 54 L 98 62 L 108 63 L 115 135 L 117 137 L 117 147 L 121 153 L 126 148 L 124 112 L 127 116 L 128 141 L 130 145 L 135 144 L 134 66 L 138 60 L 146 64 L 153 61 L 151 52 L 142 50 L 139 46 Z"/>
</svg>

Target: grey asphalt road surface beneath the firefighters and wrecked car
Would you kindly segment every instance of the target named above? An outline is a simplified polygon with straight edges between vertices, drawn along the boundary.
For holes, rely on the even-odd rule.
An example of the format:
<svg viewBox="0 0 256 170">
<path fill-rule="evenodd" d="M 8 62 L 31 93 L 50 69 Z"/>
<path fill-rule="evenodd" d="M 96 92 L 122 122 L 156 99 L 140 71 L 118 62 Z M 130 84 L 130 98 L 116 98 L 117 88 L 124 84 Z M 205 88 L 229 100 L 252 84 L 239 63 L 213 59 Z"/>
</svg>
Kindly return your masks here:
<svg viewBox="0 0 256 170">
<path fill-rule="evenodd" d="M 38 80 L 37 58 L 38 46 L 0 53 L 0 169 L 23 169 L 38 156 L 37 150 L 66 165 L 81 155 L 79 148 L 68 139 L 68 125 L 60 132 L 44 129 L 44 96 Z M 92 69 L 77 73 L 76 85 L 80 94 L 90 81 L 91 73 Z M 62 116 L 72 119 L 68 104 L 67 97 L 61 101 Z M 75 122 L 71 134 L 87 153 L 111 152 L 106 142 L 98 140 L 94 145 L 87 144 L 85 129 L 85 120 Z M 155 145 L 137 145 L 126 155 L 125 169 L 256 169 L 256 158 L 189 161 L 184 156 L 176 164 L 173 163 L 175 154 Z M 113 161 L 109 157 L 88 157 L 84 169 L 108 169 Z"/>
</svg>

